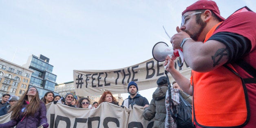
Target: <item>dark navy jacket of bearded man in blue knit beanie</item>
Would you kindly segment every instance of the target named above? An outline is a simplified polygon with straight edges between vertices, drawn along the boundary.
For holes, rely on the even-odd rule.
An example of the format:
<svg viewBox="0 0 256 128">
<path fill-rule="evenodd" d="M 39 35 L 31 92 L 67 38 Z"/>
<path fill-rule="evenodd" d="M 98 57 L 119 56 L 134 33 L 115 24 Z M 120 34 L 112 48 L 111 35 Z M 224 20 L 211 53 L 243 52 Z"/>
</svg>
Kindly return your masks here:
<svg viewBox="0 0 256 128">
<path fill-rule="evenodd" d="M 128 98 L 125 99 L 122 103 L 122 105 L 124 105 L 128 108 L 129 108 L 130 104 L 137 104 L 138 106 L 145 106 L 146 104 L 149 104 L 149 103 L 148 103 L 148 99 L 146 99 L 145 97 L 137 94 L 133 98 L 131 98 L 130 95 L 129 95 Z"/>
</svg>

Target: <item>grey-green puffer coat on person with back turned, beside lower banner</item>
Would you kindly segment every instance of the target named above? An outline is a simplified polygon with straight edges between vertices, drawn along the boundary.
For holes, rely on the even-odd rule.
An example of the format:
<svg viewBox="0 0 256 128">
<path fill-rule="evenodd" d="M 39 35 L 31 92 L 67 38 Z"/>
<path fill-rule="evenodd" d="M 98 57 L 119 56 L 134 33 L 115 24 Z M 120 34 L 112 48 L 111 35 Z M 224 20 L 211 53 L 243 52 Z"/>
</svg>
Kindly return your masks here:
<svg viewBox="0 0 256 128">
<path fill-rule="evenodd" d="M 143 112 L 144 119 L 150 121 L 154 118 L 153 128 L 164 128 L 166 119 L 165 97 L 167 86 L 157 87 L 152 95 L 152 100 L 149 107 L 146 107 Z"/>
</svg>

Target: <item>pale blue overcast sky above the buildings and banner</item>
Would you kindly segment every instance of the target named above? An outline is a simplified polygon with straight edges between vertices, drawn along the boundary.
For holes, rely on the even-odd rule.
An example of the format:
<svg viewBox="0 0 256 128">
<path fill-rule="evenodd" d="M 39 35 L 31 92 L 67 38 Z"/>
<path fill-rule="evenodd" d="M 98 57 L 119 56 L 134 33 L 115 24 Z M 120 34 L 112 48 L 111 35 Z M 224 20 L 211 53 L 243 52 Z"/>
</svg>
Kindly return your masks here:
<svg viewBox="0 0 256 128">
<path fill-rule="evenodd" d="M 73 70 L 108 70 L 152 58 L 181 24 L 181 12 L 196 0 L 0 0 L 0 58 L 18 65 L 28 56 L 50 58 L 57 84 Z M 215 0 L 227 18 L 255 0 Z M 140 91 L 149 102 L 155 88 Z M 128 95 L 123 95 L 126 98 Z"/>
</svg>

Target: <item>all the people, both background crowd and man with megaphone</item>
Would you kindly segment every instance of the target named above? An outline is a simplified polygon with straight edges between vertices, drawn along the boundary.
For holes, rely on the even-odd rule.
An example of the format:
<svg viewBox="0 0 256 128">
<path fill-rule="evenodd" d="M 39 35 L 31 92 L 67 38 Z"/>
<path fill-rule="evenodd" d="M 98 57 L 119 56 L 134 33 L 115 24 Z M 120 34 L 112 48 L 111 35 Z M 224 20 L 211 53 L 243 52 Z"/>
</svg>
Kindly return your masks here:
<svg viewBox="0 0 256 128">
<path fill-rule="evenodd" d="M 166 71 L 175 82 L 168 89 L 168 78 L 157 80 L 157 89 L 148 100 L 138 94 L 135 82 L 128 84 L 130 94 L 120 107 L 134 105 L 144 108 L 143 118 L 155 119 L 154 128 L 176 128 L 177 122 L 170 112 L 172 105 L 178 105 L 179 95 L 193 107 L 192 124 L 202 127 L 243 127 L 256 126 L 256 13 L 248 7 L 234 12 L 227 19 L 220 15 L 212 0 L 199 0 L 182 12 L 181 26 L 170 40 L 173 49 L 182 49 L 186 64 L 192 68 L 187 79 L 175 69 L 174 56 L 166 57 Z M 170 86 L 169 86 L 170 87 Z M 172 102 L 168 101 L 171 91 Z M 65 97 L 47 92 L 39 99 L 34 87 L 26 90 L 18 100 L 9 94 L 2 95 L 0 114 L 11 113 L 11 121 L 0 124 L 0 128 L 32 127 L 49 124 L 46 106 L 51 102 L 74 107 L 97 109 L 103 102 L 119 106 L 110 91 L 105 91 L 99 102 L 92 105 L 90 99 L 82 97 L 77 102 L 74 95 Z M 171 102 L 171 103 L 170 103 Z M 219 109 L 217 109 L 219 108 Z"/>
</svg>

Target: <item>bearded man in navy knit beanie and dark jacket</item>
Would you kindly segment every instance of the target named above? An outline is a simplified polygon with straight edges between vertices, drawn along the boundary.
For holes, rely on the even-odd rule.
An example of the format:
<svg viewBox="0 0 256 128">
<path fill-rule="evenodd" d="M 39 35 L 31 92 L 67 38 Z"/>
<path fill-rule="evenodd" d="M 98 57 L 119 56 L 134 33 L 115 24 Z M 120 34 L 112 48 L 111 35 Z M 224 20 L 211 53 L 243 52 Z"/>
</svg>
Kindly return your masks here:
<svg viewBox="0 0 256 128">
<path fill-rule="evenodd" d="M 148 107 L 148 99 L 138 94 L 139 89 L 135 82 L 131 81 L 128 84 L 127 90 L 130 95 L 123 101 L 122 106 L 129 108 L 130 104 L 137 104 L 138 106 L 143 106 L 144 108 Z"/>
</svg>

